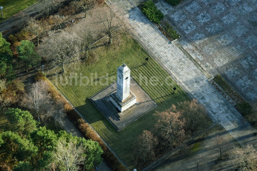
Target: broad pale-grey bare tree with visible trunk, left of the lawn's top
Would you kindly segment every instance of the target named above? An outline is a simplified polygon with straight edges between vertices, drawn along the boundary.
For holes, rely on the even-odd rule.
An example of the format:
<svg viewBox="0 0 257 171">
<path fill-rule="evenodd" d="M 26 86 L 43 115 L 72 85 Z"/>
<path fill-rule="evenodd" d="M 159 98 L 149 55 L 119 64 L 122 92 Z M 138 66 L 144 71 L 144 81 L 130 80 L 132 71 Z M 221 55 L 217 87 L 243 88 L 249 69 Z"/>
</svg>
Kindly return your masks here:
<svg viewBox="0 0 257 171">
<path fill-rule="evenodd" d="M 52 61 L 53 66 L 60 64 L 62 74 L 65 73 L 66 60 L 79 52 L 78 36 L 64 31 L 61 33 L 50 32 L 49 37 L 45 37 L 43 42 L 38 50 L 39 54 Z"/>
</svg>

